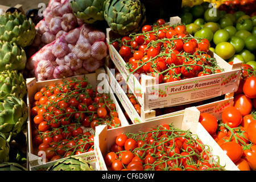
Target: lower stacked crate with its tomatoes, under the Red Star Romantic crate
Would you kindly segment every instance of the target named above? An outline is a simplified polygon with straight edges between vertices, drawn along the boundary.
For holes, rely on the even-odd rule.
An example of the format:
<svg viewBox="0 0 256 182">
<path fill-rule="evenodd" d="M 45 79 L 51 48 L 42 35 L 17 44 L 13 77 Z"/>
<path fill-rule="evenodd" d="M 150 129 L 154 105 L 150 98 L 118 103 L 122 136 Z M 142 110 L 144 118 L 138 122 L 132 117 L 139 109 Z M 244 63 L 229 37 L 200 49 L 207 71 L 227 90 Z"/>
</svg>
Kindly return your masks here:
<svg viewBox="0 0 256 182">
<path fill-rule="evenodd" d="M 232 106 L 233 104 L 234 93 L 229 93 L 223 96 L 193 102 L 191 104 L 143 110 L 141 104 L 139 104 L 137 98 L 124 81 L 121 73 L 119 73 L 116 68 L 109 68 L 107 65 L 105 65 L 105 69 L 109 77 L 110 86 L 112 86 L 115 95 L 120 101 L 120 106 L 125 110 L 125 115 L 127 116 L 128 121 L 130 120 L 132 123 L 151 121 L 153 119 L 155 120 L 184 113 L 184 109 L 191 106 L 196 106 L 201 113 L 210 113 L 217 119 L 221 119 L 221 112 L 226 107 Z"/>
</svg>

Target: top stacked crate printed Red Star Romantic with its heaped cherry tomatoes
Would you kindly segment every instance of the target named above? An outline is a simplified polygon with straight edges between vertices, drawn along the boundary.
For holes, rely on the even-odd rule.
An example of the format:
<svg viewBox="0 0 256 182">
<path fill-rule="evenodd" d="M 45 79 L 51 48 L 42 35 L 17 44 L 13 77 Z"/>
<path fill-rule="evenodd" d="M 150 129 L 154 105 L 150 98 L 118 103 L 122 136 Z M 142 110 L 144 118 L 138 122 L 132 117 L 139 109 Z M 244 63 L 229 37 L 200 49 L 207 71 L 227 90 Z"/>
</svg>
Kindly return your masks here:
<svg viewBox="0 0 256 182">
<path fill-rule="evenodd" d="M 236 92 L 241 61 L 228 64 L 174 16 L 127 36 L 107 28 L 110 57 L 144 110 Z"/>
</svg>

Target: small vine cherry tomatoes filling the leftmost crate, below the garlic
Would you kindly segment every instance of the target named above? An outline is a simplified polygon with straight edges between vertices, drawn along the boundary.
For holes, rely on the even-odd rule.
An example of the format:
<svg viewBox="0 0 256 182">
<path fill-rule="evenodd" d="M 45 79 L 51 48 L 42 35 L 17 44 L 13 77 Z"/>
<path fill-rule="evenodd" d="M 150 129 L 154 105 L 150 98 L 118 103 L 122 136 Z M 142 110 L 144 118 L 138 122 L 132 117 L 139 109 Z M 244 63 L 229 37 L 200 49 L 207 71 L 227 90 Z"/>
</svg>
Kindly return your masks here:
<svg viewBox="0 0 256 182">
<path fill-rule="evenodd" d="M 92 89 L 86 77 L 43 87 L 34 100 L 32 144 L 48 161 L 92 151 L 97 125 L 121 125 L 110 95 Z"/>
</svg>

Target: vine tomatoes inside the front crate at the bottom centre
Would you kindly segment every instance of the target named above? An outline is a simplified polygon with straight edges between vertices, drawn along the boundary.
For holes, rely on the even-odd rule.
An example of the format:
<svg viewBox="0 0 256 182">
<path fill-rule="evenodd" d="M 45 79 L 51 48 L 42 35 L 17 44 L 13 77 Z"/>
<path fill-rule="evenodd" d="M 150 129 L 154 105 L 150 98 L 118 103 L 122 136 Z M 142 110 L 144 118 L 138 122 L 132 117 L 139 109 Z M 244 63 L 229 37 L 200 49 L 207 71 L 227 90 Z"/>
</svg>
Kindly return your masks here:
<svg viewBox="0 0 256 182">
<path fill-rule="evenodd" d="M 210 150 L 189 130 L 164 124 L 146 132 L 117 135 L 104 160 L 113 171 L 223 170 Z"/>
</svg>

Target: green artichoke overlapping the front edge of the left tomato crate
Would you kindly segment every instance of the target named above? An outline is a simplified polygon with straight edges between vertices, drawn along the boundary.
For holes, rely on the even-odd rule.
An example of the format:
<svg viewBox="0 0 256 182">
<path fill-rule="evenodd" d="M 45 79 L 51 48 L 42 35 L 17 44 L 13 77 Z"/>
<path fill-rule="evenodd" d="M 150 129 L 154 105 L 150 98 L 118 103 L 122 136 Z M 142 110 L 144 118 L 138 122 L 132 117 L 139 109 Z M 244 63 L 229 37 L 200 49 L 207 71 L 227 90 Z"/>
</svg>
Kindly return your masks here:
<svg viewBox="0 0 256 182">
<path fill-rule="evenodd" d="M 57 160 L 47 171 L 93 171 L 93 167 L 81 156 L 69 156 Z"/>
</svg>

